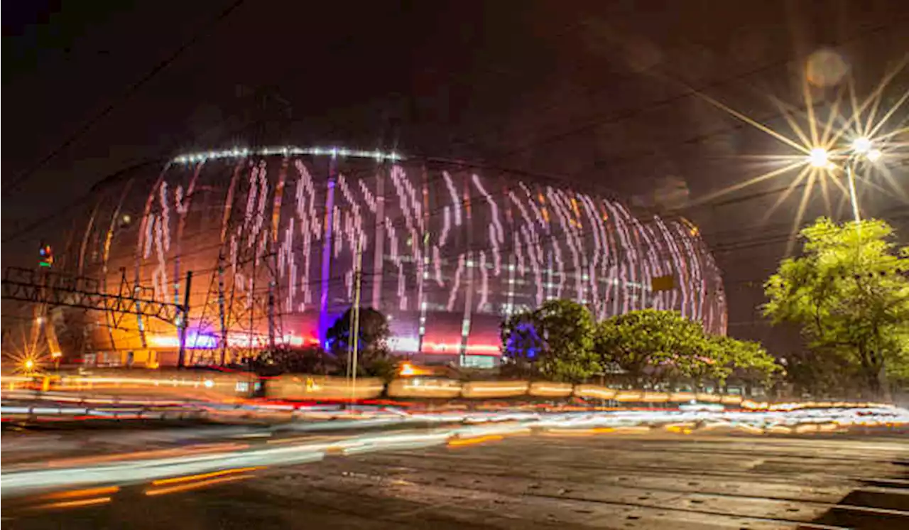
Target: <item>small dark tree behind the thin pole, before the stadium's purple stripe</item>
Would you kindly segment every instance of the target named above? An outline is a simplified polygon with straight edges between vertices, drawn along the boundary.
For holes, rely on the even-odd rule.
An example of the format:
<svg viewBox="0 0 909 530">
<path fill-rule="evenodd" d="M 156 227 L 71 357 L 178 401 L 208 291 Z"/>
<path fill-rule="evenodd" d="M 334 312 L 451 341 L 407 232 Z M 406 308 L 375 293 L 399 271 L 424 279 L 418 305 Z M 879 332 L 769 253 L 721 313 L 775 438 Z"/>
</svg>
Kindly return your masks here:
<svg viewBox="0 0 909 530">
<path fill-rule="evenodd" d="M 328 352 L 335 356 L 336 363 L 344 374 L 347 373 L 348 351 L 353 352 L 352 327 L 353 308 L 350 308 L 325 333 Z M 357 335 L 357 375 L 384 379 L 394 377 L 395 360 L 388 348 L 390 332 L 385 315 L 372 307 L 361 308 Z"/>
</svg>

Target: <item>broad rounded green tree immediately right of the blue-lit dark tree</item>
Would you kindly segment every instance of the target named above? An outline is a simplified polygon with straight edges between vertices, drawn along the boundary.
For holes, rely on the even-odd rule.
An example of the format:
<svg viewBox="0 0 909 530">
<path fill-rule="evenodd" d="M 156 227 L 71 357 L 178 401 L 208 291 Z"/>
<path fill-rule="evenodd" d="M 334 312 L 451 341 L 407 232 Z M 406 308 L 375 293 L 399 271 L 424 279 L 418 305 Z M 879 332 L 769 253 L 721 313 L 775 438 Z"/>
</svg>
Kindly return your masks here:
<svg viewBox="0 0 909 530">
<path fill-rule="evenodd" d="M 675 311 L 642 309 L 605 319 L 597 326 L 595 351 L 604 365 L 617 365 L 636 385 L 686 377 L 700 384 L 726 374 L 704 328 Z"/>
</svg>

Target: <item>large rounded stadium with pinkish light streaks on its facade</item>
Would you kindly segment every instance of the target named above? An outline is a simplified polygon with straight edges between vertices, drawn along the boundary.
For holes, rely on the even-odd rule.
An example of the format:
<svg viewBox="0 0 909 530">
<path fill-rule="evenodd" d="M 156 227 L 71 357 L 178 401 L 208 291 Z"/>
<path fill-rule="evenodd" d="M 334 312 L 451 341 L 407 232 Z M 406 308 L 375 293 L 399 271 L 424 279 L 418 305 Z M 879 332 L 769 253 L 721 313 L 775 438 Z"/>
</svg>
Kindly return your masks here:
<svg viewBox="0 0 909 530">
<path fill-rule="evenodd" d="M 552 298 L 598 318 L 675 309 L 725 333 L 720 271 L 694 225 L 544 177 L 374 151 L 235 149 L 122 173 L 92 200 L 65 270 L 106 292 L 187 302 L 190 364 L 323 345 L 357 286 L 361 306 L 389 319 L 392 350 L 427 364 L 496 365 L 503 318 Z M 87 365 L 176 362 L 178 323 L 85 318 Z"/>
</svg>

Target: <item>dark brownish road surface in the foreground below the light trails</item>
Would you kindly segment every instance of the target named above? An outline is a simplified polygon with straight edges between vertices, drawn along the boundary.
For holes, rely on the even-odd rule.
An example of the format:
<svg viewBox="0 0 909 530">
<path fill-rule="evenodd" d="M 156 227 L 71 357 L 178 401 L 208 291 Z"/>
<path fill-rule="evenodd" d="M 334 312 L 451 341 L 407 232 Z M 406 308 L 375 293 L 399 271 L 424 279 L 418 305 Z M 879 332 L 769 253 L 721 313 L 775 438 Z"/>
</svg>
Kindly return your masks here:
<svg viewBox="0 0 909 530">
<path fill-rule="evenodd" d="M 135 485 L 99 505 L 5 510 L 0 529 L 904 530 L 907 464 L 899 436 L 533 435 L 329 456 L 165 495 Z"/>
</svg>

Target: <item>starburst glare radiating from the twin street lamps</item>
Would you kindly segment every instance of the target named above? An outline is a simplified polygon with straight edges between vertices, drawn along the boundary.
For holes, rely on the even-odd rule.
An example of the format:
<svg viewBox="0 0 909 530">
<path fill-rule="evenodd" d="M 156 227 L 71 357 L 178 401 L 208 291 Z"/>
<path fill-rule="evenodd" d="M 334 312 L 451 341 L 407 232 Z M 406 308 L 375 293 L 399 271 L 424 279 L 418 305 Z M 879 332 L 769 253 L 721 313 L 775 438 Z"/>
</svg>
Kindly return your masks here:
<svg viewBox="0 0 909 530">
<path fill-rule="evenodd" d="M 789 251 L 791 251 L 794 235 L 801 228 L 802 217 L 807 210 L 808 201 L 815 185 L 822 192 L 828 215 L 835 215 L 830 200 L 831 189 L 838 190 L 844 197 L 840 207 L 851 200 L 849 189 L 845 185 L 844 168 L 847 165 L 853 166 L 856 178 L 861 181 L 858 186 L 858 202 L 861 202 L 862 192 L 871 189 L 883 193 L 883 195 L 894 195 L 903 202 L 909 202 L 909 195 L 896 182 L 894 175 L 886 165 L 859 164 L 863 161 L 878 162 L 884 152 L 887 154 L 888 163 L 892 160 L 898 161 L 903 157 L 901 150 L 909 146 L 909 143 L 897 140 L 899 135 L 909 132 L 909 127 L 894 126 L 895 120 L 891 120 L 906 99 L 909 99 L 909 90 L 905 90 L 899 97 L 891 97 L 888 94 L 884 103 L 885 90 L 894 81 L 894 77 L 909 63 L 909 55 L 888 71 L 864 99 L 856 96 L 855 80 L 846 70 L 841 72 L 842 75 L 824 74 L 826 70 L 819 66 L 828 65 L 830 61 L 824 57 L 832 56 L 826 52 L 813 55 L 814 66 L 817 67 L 814 67 L 814 70 L 809 68 L 808 75 L 803 76 L 803 101 L 798 105 L 785 103 L 771 96 L 771 100 L 779 111 L 778 115 L 774 115 L 774 119 L 783 118 L 784 125 L 786 125 L 784 128 L 774 128 L 772 125 L 744 115 L 714 97 L 696 93 L 710 105 L 714 105 L 744 124 L 773 137 L 779 142 L 781 149 L 779 153 L 774 154 L 747 155 L 746 157 L 749 159 L 761 161 L 763 174 L 736 182 L 713 194 L 695 199 L 692 201 L 693 205 L 713 202 L 746 187 L 766 183 L 771 179 L 784 178 L 786 185 L 767 192 L 779 193 L 780 196 L 775 204 L 768 208 L 764 215 L 764 222 L 769 221 L 774 216 L 774 211 L 783 205 L 796 190 L 800 190 L 802 197 L 795 211 L 789 242 Z M 818 102 L 814 101 L 815 87 L 821 85 L 835 86 L 835 97 L 829 104 L 818 105 Z M 885 130 L 885 126 L 889 126 L 891 130 Z M 788 128 L 788 131 L 785 128 Z M 850 138 L 851 141 L 845 140 Z M 875 182 L 873 177 L 877 175 L 883 177 L 885 186 Z M 730 200 L 736 199 L 730 198 Z"/>
</svg>

